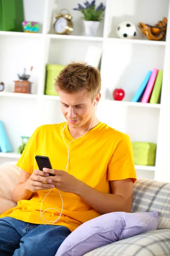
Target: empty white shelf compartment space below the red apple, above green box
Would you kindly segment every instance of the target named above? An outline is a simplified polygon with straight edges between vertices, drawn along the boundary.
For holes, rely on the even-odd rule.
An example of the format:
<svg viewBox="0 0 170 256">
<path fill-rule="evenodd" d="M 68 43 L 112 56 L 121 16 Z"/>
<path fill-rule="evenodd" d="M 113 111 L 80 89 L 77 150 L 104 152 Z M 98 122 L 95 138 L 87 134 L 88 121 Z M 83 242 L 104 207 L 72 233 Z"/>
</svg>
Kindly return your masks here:
<svg viewBox="0 0 170 256">
<path fill-rule="evenodd" d="M 140 105 L 140 102 L 101 101 L 96 115 L 101 122 L 128 134 L 131 141 L 157 144 L 160 109 L 137 107 Z M 151 104 L 143 104 L 145 105 Z"/>
</svg>

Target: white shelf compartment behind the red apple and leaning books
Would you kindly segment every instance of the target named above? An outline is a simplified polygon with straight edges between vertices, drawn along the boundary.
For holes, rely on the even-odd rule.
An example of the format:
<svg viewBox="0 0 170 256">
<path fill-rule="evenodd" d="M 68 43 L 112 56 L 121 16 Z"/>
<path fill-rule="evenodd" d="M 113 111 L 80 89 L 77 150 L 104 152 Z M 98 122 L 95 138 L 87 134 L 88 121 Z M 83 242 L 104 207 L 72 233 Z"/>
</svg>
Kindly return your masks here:
<svg viewBox="0 0 170 256">
<path fill-rule="evenodd" d="M 114 61 L 112 65 L 102 65 L 102 95 L 111 100 L 114 89 L 122 88 L 125 91 L 124 100 L 131 102 L 148 70 L 163 70 L 166 47 L 121 44 L 119 40 L 114 42 L 114 45 L 110 40 L 104 44 L 102 62 Z"/>
</svg>

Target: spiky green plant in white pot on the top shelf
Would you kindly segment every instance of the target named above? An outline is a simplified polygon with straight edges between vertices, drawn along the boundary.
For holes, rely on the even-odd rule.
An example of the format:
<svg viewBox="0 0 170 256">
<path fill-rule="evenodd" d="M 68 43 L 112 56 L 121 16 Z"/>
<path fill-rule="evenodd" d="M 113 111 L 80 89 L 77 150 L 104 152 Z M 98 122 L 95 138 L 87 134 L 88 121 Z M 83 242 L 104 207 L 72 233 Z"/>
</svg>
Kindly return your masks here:
<svg viewBox="0 0 170 256">
<path fill-rule="evenodd" d="M 85 35 L 95 36 L 99 23 L 104 17 L 105 6 L 103 3 L 100 3 L 99 6 L 96 7 L 95 0 L 91 3 L 86 1 L 84 5 L 85 7 L 78 3 L 78 8 L 74 8 L 74 10 L 81 11 L 83 14 L 82 18 L 85 27 Z"/>
</svg>

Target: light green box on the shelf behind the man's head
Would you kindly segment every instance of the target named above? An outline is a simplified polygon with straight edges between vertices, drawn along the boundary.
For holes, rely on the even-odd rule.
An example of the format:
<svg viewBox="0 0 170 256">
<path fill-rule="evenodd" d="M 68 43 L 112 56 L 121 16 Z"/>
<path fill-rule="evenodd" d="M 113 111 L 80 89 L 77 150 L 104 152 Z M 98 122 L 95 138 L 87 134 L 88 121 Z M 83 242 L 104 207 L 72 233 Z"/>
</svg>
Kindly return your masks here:
<svg viewBox="0 0 170 256">
<path fill-rule="evenodd" d="M 65 68 L 65 65 L 48 64 L 46 66 L 46 78 L 45 78 L 45 94 L 58 96 L 58 93 L 54 89 L 55 79 L 59 75 L 60 71 Z"/>
</svg>

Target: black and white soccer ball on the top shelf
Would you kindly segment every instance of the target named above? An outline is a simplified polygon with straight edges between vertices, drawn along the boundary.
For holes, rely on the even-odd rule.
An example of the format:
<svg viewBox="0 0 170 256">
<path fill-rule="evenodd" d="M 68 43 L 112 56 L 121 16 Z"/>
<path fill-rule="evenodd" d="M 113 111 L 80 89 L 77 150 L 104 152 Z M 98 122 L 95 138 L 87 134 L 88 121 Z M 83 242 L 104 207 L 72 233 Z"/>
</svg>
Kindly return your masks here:
<svg viewBox="0 0 170 256">
<path fill-rule="evenodd" d="M 130 21 L 119 23 L 116 29 L 118 38 L 134 39 L 137 35 L 136 26 Z"/>
</svg>

